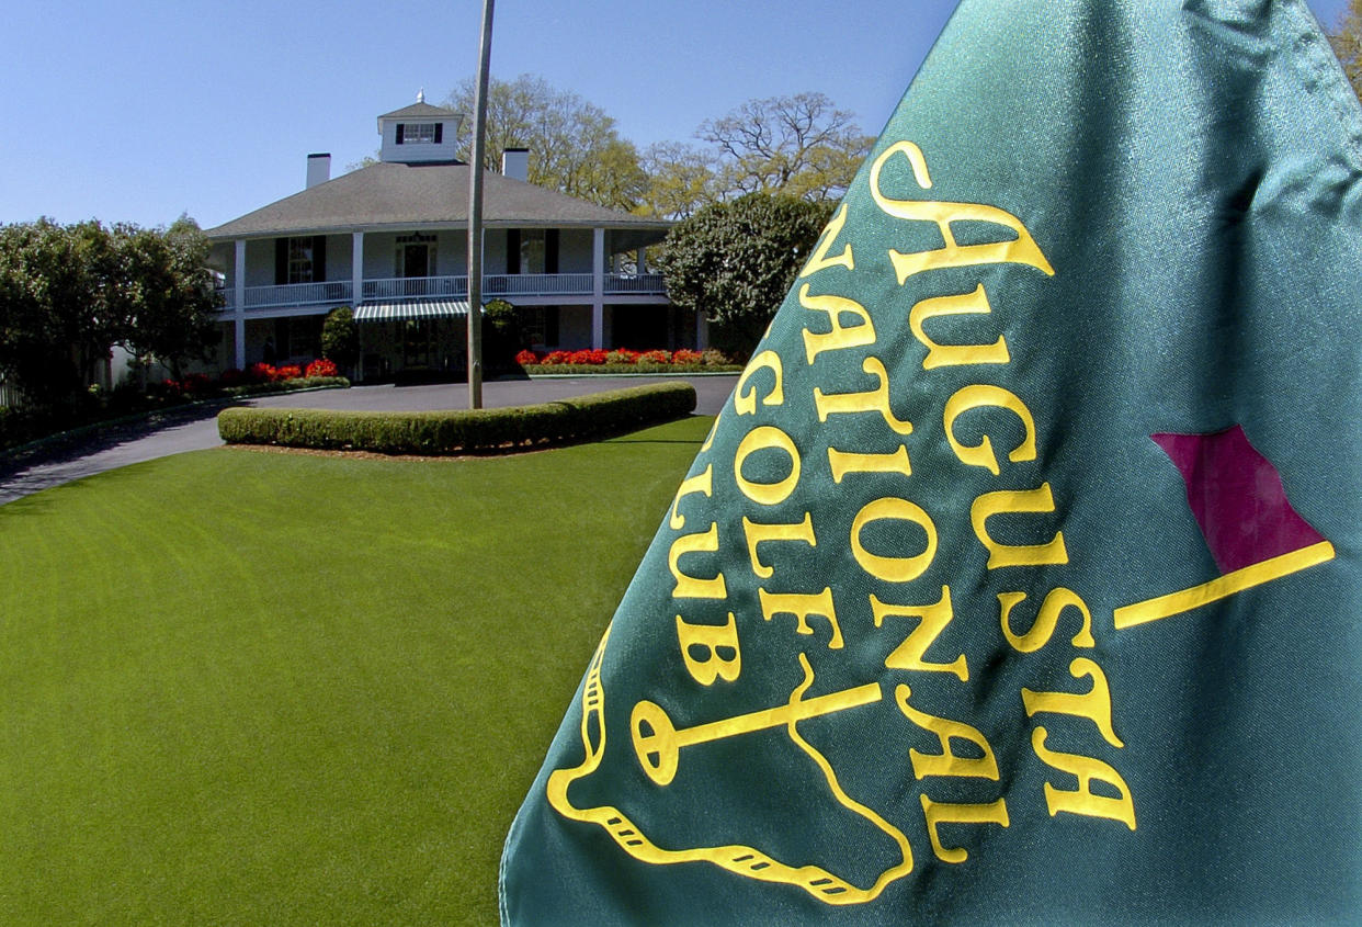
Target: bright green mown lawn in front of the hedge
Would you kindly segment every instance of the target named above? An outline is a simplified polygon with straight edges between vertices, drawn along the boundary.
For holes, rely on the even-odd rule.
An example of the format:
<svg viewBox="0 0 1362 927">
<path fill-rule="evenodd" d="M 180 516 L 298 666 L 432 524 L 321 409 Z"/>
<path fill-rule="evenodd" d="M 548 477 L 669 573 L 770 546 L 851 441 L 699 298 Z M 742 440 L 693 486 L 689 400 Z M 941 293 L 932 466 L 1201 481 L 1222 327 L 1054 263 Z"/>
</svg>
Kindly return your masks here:
<svg viewBox="0 0 1362 927">
<path fill-rule="evenodd" d="M 507 827 L 710 423 L 218 449 L 0 506 L 0 923 L 496 923 Z"/>
</svg>

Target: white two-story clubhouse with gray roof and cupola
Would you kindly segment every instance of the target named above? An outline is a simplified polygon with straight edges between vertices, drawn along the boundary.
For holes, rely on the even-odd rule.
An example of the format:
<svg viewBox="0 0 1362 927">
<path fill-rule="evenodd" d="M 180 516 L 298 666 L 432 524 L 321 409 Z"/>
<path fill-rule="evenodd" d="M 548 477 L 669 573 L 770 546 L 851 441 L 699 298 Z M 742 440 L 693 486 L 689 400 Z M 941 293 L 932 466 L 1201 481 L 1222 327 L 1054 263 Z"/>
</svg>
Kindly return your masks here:
<svg viewBox="0 0 1362 927">
<path fill-rule="evenodd" d="M 464 365 L 469 165 L 463 117 L 418 97 L 379 117 L 379 161 L 207 229 L 222 274 L 222 365 L 320 356 L 321 320 L 354 308 L 361 378 Z M 703 348 L 703 319 L 671 305 L 643 249 L 669 222 L 527 183 L 528 153 L 484 173 L 484 300 L 516 307 L 537 349 Z"/>
</svg>

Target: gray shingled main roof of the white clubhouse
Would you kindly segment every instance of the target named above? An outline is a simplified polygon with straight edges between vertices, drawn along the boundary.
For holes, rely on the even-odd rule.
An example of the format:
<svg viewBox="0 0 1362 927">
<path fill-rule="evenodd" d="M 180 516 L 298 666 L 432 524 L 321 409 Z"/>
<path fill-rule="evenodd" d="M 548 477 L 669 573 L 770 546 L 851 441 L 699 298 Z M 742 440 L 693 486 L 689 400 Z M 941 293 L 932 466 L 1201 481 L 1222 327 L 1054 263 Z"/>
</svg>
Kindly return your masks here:
<svg viewBox="0 0 1362 927">
<path fill-rule="evenodd" d="M 663 232 L 670 226 L 662 219 L 605 209 L 492 172 L 484 172 L 482 189 L 482 218 L 493 228 L 602 226 Z M 467 221 L 469 165 L 383 162 L 223 222 L 208 229 L 207 236 L 222 241 L 467 225 Z"/>
</svg>

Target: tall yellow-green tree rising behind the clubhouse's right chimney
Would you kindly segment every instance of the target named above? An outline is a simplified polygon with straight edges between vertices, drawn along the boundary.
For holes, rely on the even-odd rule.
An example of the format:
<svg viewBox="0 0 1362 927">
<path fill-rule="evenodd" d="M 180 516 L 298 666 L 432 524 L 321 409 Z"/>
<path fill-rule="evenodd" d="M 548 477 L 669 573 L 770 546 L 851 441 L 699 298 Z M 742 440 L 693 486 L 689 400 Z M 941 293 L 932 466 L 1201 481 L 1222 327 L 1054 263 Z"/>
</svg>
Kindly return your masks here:
<svg viewBox="0 0 1362 927">
<path fill-rule="evenodd" d="M 474 80 L 449 94 L 445 106 L 469 113 Z M 463 132 L 459 157 L 471 158 L 473 131 Z M 633 143 L 620 138 L 605 110 L 539 76 L 492 78 L 482 166 L 501 169 L 507 149 L 530 150 L 530 183 L 613 209 L 633 209 L 647 187 Z"/>
</svg>

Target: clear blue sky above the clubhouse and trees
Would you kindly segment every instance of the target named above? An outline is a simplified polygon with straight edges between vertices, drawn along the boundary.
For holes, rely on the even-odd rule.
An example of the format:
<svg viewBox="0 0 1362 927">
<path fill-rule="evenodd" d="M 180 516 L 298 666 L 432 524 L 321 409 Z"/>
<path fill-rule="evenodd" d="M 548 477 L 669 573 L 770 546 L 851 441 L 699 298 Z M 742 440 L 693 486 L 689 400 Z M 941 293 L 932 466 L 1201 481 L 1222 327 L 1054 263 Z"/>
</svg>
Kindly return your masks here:
<svg viewBox="0 0 1362 927">
<path fill-rule="evenodd" d="M 1346 0 L 1309 0 L 1329 26 Z M 868 134 L 955 0 L 501 0 L 492 71 L 573 90 L 644 146 L 745 100 L 820 90 Z M 481 0 L 8 4 L 0 222 L 211 226 L 377 147 L 375 117 L 473 74 Z"/>
</svg>

